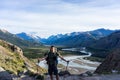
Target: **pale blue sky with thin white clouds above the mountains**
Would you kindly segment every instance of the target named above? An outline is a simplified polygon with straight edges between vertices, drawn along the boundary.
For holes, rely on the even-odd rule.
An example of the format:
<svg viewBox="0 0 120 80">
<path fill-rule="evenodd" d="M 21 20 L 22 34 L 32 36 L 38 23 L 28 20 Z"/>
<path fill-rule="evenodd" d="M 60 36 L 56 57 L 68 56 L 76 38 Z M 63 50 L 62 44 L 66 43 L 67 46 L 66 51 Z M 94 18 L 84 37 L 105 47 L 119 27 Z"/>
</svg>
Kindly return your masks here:
<svg viewBox="0 0 120 80">
<path fill-rule="evenodd" d="M 120 29 L 120 0 L 0 0 L 0 28 L 40 37 Z"/>
</svg>

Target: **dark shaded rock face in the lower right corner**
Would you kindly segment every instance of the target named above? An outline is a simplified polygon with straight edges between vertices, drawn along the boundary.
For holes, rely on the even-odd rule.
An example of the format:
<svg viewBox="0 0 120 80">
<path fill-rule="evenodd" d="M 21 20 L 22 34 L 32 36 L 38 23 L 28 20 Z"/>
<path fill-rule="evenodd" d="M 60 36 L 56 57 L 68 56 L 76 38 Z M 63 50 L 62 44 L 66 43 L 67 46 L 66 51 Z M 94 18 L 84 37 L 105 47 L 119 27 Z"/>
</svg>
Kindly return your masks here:
<svg viewBox="0 0 120 80">
<path fill-rule="evenodd" d="M 111 54 L 106 57 L 105 61 L 96 69 L 95 73 L 106 74 L 120 72 L 120 49 L 112 50 Z"/>
</svg>

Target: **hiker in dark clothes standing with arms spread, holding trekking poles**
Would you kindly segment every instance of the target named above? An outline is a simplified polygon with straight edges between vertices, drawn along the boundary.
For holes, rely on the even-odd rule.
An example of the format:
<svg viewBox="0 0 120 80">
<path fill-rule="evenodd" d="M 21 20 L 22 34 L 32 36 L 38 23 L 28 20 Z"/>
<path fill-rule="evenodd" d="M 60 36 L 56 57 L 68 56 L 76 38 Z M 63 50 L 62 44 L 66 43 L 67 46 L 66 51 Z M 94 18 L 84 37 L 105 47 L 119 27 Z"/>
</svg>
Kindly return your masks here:
<svg viewBox="0 0 120 80">
<path fill-rule="evenodd" d="M 58 75 L 58 69 L 57 69 L 57 64 L 58 64 L 58 57 L 61 58 L 62 60 L 66 61 L 69 63 L 69 61 L 65 60 L 59 53 L 57 53 L 57 48 L 54 46 L 50 47 L 50 52 L 45 54 L 45 57 L 39 60 L 46 60 L 48 64 L 48 73 L 50 75 L 51 80 L 53 80 L 53 73 L 56 75 L 56 80 L 59 80 L 59 75 Z"/>
</svg>

